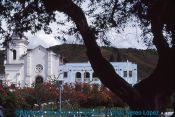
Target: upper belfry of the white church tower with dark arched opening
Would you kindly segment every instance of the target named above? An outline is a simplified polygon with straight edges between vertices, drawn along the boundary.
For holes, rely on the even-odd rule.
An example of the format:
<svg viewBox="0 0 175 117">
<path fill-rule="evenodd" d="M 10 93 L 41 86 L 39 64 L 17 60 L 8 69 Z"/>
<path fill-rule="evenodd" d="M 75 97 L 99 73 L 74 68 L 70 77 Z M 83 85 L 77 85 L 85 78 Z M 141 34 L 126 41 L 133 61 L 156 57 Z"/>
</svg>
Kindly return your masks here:
<svg viewBox="0 0 175 117">
<path fill-rule="evenodd" d="M 27 38 L 18 32 L 13 32 L 12 41 L 9 43 L 7 49 L 7 61 L 6 64 L 21 63 L 20 58 L 27 53 Z"/>
</svg>

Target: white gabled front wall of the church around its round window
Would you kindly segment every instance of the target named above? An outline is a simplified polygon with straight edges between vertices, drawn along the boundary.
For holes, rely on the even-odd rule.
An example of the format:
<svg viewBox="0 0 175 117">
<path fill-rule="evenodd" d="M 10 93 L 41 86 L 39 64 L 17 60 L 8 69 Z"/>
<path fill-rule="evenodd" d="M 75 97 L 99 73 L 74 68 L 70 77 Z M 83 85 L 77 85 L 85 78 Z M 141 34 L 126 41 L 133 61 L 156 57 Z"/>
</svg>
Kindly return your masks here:
<svg viewBox="0 0 175 117">
<path fill-rule="evenodd" d="M 36 71 L 36 65 L 41 64 L 43 70 Z M 43 46 L 38 46 L 28 52 L 25 57 L 25 82 L 31 86 L 35 83 L 37 76 L 41 76 L 44 82 L 58 77 L 59 56 L 55 53 L 48 51 Z"/>
</svg>

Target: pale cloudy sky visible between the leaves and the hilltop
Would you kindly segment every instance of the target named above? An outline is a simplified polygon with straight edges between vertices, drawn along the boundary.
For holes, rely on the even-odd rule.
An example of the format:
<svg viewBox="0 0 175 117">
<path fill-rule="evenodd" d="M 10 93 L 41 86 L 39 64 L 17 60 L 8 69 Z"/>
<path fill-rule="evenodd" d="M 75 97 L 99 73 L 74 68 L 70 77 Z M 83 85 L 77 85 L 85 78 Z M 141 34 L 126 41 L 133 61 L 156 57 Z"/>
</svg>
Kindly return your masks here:
<svg viewBox="0 0 175 117">
<path fill-rule="evenodd" d="M 139 34 L 141 33 L 140 29 L 135 28 L 126 28 L 125 31 L 121 34 L 115 33 L 115 31 L 110 31 L 107 34 L 107 37 L 111 41 L 111 46 L 117 48 L 137 48 L 137 49 L 146 49 L 147 47 L 141 40 Z M 76 42 L 75 37 L 73 36 L 66 36 L 68 39 L 67 42 L 62 42 L 61 40 L 55 39 L 54 37 L 57 35 L 61 35 L 53 31 L 52 34 L 47 35 L 43 31 L 39 31 L 35 35 L 30 33 L 25 33 L 25 36 L 28 38 L 29 41 L 29 48 L 35 48 L 38 45 L 42 45 L 46 48 L 54 45 L 60 45 L 63 43 L 70 43 L 70 44 L 81 44 L 80 42 Z M 100 41 L 98 41 L 99 45 L 102 45 Z"/>
</svg>

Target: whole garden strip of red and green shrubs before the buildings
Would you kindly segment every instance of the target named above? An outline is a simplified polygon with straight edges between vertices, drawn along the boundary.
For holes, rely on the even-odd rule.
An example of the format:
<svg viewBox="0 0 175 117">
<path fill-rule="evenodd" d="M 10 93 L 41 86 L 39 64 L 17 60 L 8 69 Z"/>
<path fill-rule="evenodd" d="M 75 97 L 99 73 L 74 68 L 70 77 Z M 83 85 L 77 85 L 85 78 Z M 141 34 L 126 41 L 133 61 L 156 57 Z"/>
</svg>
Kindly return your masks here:
<svg viewBox="0 0 175 117">
<path fill-rule="evenodd" d="M 56 82 L 23 88 L 0 85 L 0 105 L 4 108 L 5 117 L 14 117 L 17 110 L 73 112 L 126 107 L 118 96 L 104 86 L 76 83 L 59 87 Z"/>
</svg>

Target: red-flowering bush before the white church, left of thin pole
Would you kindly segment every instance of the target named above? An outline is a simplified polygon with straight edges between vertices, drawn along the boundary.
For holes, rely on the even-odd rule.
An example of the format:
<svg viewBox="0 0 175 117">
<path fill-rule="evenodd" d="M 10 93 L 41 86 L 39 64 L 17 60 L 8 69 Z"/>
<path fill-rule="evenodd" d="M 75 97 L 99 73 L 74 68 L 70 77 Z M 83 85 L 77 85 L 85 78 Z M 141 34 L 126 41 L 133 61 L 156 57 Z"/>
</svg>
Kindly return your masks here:
<svg viewBox="0 0 175 117">
<path fill-rule="evenodd" d="M 58 90 L 51 83 L 38 84 L 35 87 L 16 89 L 17 108 L 34 108 L 34 104 L 41 106 L 42 103 L 55 102 L 58 98 Z"/>
</svg>

